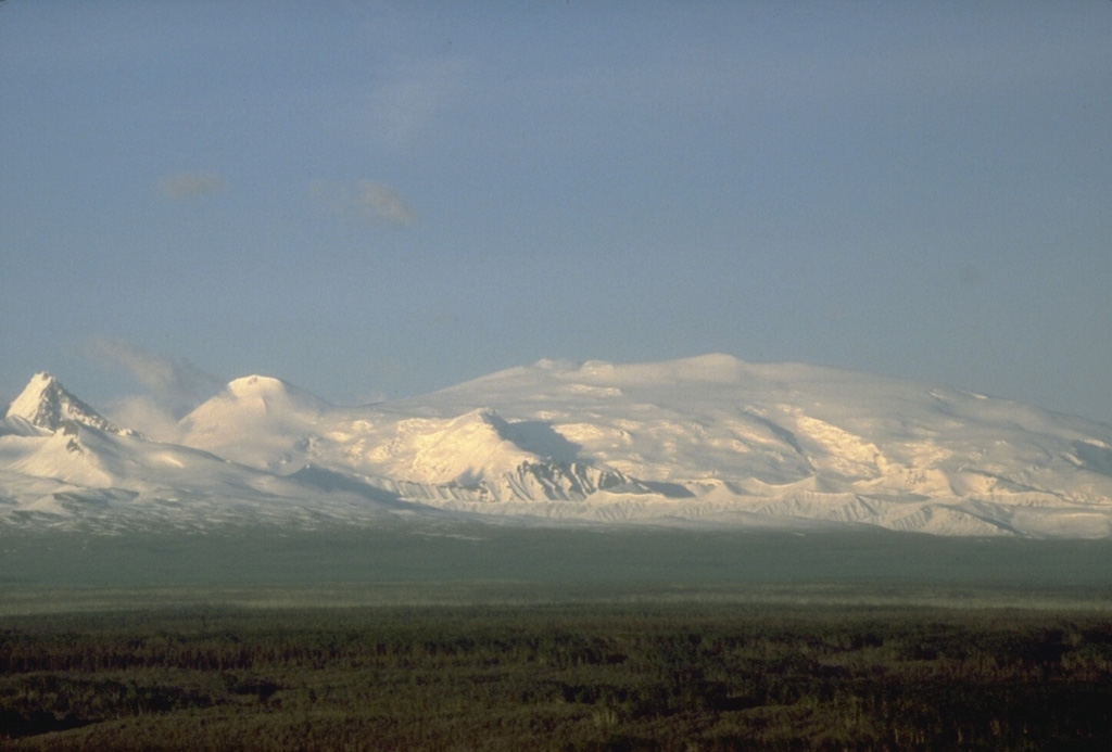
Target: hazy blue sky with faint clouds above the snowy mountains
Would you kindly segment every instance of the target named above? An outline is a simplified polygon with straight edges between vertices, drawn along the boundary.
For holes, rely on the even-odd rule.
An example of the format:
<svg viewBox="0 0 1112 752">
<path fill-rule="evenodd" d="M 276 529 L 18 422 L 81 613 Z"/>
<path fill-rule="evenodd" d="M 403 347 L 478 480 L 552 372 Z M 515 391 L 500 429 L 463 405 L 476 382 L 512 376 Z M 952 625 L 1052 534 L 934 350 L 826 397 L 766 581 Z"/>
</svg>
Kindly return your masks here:
<svg viewBox="0 0 1112 752">
<path fill-rule="evenodd" d="M 1110 50 L 1108 0 L 3 0 L 0 401 L 724 352 L 1112 423 Z"/>
</svg>

